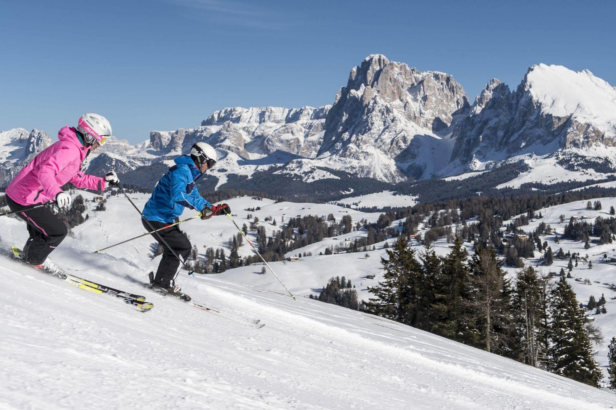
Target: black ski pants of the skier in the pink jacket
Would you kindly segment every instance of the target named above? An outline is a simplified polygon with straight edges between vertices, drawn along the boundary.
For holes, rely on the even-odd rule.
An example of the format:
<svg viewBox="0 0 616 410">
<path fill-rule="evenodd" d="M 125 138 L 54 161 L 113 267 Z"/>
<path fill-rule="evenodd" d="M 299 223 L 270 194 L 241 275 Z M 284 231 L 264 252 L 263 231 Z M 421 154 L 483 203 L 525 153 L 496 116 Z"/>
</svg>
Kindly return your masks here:
<svg viewBox="0 0 616 410">
<path fill-rule="evenodd" d="M 67 236 L 67 226 L 47 207 L 23 211 L 32 205 L 21 205 L 5 195 L 6 203 L 11 211 L 18 211 L 17 216 L 28 224 L 30 237 L 23 245 L 23 256 L 26 262 L 41 264 Z M 19 212 L 21 211 L 21 212 Z"/>
</svg>

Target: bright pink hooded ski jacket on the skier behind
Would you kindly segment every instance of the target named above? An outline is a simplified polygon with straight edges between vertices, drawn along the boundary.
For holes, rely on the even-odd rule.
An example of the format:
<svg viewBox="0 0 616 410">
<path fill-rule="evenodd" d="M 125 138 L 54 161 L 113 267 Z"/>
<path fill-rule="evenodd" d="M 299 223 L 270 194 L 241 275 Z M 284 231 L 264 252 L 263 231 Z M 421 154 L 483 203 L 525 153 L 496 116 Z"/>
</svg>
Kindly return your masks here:
<svg viewBox="0 0 616 410">
<path fill-rule="evenodd" d="M 58 139 L 44 149 L 10 181 L 6 194 L 21 205 L 45 203 L 62 192 L 67 182 L 78 188 L 105 190 L 105 178 L 86 175 L 79 170 L 90 147 L 84 147 L 75 134 L 76 129 L 65 126 Z"/>
</svg>

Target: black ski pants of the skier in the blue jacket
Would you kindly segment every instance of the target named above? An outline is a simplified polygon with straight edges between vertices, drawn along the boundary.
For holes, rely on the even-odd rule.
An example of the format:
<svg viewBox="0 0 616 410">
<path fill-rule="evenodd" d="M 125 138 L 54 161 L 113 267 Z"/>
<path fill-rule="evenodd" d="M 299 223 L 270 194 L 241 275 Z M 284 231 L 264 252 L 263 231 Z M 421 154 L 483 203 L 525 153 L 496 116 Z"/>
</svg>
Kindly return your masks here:
<svg viewBox="0 0 616 410">
<path fill-rule="evenodd" d="M 160 229 L 167 226 L 158 221 L 148 221 L 145 218 L 141 218 L 141 223 L 144 224 L 144 228 L 149 232 L 152 232 L 152 228 Z M 150 224 L 148 224 L 150 223 Z M 150 226 L 152 225 L 152 226 Z M 165 245 L 165 242 L 171 247 L 171 249 L 185 261 L 190 255 L 190 240 L 186 237 L 184 232 L 180 231 L 179 226 L 172 226 L 171 228 L 163 229 L 152 234 L 156 242 L 163 247 L 163 258 L 158 264 L 158 271 L 154 277 L 154 283 L 162 287 L 169 287 L 174 285 L 174 280 L 182 267 L 180 261 L 171 252 L 171 250 Z"/>
</svg>

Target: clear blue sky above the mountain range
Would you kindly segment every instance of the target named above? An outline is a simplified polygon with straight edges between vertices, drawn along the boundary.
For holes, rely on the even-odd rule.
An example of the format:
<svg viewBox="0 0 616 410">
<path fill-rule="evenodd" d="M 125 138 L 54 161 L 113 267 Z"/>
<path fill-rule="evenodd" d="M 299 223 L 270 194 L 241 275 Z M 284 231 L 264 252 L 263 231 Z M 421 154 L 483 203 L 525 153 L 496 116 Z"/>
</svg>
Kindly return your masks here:
<svg viewBox="0 0 616 410">
<path fill-rule="evenodd" d="M 616 85 L 615 2 L 0 0 L 0 129 L 84 112 L 135 143 L 224 107 L 332 104 L 370 54 L 453 75 L 474 100 L 541 62 Z"/>
</svg>

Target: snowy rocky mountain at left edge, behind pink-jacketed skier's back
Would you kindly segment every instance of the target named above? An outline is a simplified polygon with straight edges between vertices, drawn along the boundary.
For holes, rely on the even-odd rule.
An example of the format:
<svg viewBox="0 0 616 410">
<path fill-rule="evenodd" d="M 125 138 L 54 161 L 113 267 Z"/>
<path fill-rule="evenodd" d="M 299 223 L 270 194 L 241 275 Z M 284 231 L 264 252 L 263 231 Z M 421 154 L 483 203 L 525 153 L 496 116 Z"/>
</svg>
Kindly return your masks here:
<svg viewBox="0 0 616 410">
<path fill-rule="evenodd" d="M 23 166 L 51 144 L 49 134 L 38 129 L 30 133 L 23 128 L 0 132 L 0 186 L 6 187 Z"/>
</svg>

